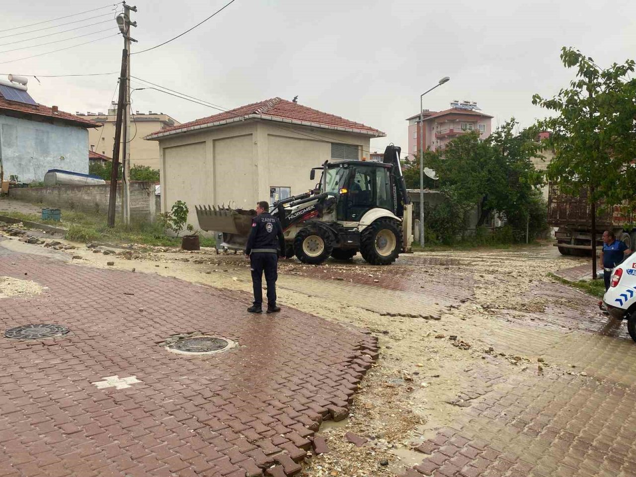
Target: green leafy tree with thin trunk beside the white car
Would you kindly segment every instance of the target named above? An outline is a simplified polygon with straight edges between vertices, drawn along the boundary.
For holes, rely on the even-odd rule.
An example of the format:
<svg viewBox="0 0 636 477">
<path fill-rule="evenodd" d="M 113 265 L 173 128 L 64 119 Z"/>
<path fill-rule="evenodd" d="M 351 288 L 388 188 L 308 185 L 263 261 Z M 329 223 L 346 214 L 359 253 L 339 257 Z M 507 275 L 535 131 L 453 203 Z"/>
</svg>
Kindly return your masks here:
<svg viewBox="0 0 636 477">
<path fill-rule="evenodd" d="M 535 94 L 532 102 L 556 113 L 537 123 L 552 132 L 547 142 L 555 156 L 547 176 L 566 193 L 587 192 L 595 244 L 598 201 L 604 199 L 610 207 L 623 200 L 634 202 L 636 79 L 629 74 L 635 64 L 626 60 L 601 68 L 579 50 L 565 47 L 560 58 L 566 68 L 576 68 L 576 79 L 552 99 Z M 592 257 L 595 276 L 596 254 Z"/>
</svg>

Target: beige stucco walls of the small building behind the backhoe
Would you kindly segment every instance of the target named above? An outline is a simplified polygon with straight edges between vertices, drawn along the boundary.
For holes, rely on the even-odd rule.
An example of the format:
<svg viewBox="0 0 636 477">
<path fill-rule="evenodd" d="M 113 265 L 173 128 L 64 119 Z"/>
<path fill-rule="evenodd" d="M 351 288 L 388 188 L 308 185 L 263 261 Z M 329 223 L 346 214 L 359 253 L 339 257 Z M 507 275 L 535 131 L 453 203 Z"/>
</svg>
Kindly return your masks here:
<svg viewBox="0 0 636 477">
<path fill-rule="evenodd" d="M 360 158 L 368 157 L 370 147 L 368 136 L 279 127 L 272 121 L 245 121 L 153 142 L 162 157 L 162 212 L 185 200 L 195 228 L 195 205 L 232 202 L 253 209 L 258 200 L 269 200 L 270 186 L 291 187 L 293 195 L 306 192 L 317 182 L 310 181 L 310 169 L 331 160 L 331 142 L 358 144 Z"/>
</svg>

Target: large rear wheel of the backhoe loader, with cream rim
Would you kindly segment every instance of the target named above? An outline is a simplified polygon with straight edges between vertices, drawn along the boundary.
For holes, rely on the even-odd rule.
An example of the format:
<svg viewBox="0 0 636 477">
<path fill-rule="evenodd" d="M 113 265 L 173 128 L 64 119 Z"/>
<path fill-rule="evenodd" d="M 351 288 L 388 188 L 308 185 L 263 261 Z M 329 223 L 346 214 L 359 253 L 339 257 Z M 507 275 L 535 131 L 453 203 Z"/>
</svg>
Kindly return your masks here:
<svg viewBox="0 0 636 477">
<path fill-rule="evenodd" d="M 401 225 L 392 219 L 377 219 L 361 233 L 360 245 L 360 253 L 372 265 L 391 265 L 402 249 Z"/>
</svg>

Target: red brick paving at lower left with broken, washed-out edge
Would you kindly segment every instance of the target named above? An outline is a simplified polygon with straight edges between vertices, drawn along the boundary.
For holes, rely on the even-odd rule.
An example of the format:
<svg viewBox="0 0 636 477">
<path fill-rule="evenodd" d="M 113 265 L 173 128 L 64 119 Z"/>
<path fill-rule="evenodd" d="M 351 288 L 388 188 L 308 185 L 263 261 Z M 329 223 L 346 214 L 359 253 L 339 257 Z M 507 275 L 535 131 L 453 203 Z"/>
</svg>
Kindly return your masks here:
<svg viewBox="0 0 636 477">
<path fill-rule="evenodd" d="M 249 315 L 244 293 L 1 247 L 0 275 L 48 287 L 2 300 L 2 331 L 71 329 L 0 338 L 0 476 L 291 475 L 321 421 L 346 415 L 377 356 L 375 338 L 333 322 L 291 309 Z M 191 357 L 158 344 L 193 331 L 239 347 Z M 141 382 L 92 384 L 115 375 Z"/>
</svg>

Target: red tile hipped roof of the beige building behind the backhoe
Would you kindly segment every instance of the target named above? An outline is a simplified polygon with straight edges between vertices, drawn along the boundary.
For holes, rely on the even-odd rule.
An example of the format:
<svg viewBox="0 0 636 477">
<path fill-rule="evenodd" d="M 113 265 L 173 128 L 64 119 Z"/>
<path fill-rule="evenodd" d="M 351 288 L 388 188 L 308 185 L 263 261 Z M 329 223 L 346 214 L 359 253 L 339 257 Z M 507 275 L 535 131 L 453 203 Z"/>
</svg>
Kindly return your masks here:
<svg viewBox="0 0 636 477">
<path fill-rule="evenodd" d="M 349 121 L 340 116 L 323 113 L 317 109 L 302 106 L 281 98 L 267 99 L 261 102 L 240 106 L 224 113 L 214 114 L 199 120 L 165 128 L 146 136 L 146 139 L 158 139 L 165 135 L 188 132 L 205 127 L 216 127 L 245 119 L 263 119 L 287 124 L 303 125 L 315 128 L 341 130 L 372 137 L 384 137 L 384 132 L 366 126 L 363 123 Z"/>
</svg>

